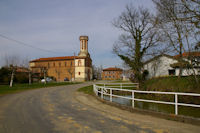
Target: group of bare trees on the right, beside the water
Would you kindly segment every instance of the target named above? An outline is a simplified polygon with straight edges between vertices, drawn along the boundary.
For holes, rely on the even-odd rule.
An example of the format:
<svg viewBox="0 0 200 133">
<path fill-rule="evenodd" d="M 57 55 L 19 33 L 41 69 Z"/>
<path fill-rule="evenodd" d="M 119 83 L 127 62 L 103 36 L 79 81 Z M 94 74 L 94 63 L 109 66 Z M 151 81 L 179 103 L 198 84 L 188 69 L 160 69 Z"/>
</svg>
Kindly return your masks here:
<svg viewBox="0 0 200 133">
<path fill-rule="evenodd" d="M 152 1 L 156 13 L 129 4 L 112 22 L 123 32 L 113 45 L 113 51 L 133 70 L 134 81 L 139 83 L 144 80 L 145 60 L 169 53 L 178 54 L 178 62 L 183 64 L 184 52 L 200 49 L 200 1 Z M 192 68 L 199 60 L 190 58 L 188 63 Z M 183 65 L 179 68 L 181 77 Z"/>
</svg>

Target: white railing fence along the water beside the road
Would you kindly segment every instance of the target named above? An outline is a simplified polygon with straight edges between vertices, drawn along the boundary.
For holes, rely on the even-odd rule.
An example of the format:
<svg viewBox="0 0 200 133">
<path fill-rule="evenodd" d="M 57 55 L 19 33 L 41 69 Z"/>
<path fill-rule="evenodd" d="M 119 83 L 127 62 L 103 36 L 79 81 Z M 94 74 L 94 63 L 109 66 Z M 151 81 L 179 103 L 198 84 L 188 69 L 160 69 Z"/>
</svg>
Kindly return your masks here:
<svg viewBox="0 0 200 133">
<path fill-rule="evenodd" d="M 160 104 L 169 104 L 175 106 L 175 114 L 178 115 L 178 106 L 188 106 L 188 107 L 198 107 L 200 105 L 197 104 L 188 104 L 188 103 L 179 103 L 178 96 L 197 96 L 200 97 L 200 94 L 196 93 L 179 93 L 179 92 L 159 92 L 159 91 L 140 91 L 140 90 L 130 90 L 126 88 L 138 88 L 138 83 L 103 83 L 103 84 L 94 84 L 93 91 L 98 96 L 98 93 L 101 94 L 101 98 L 103 99 L 104 95 L 110 96 L 110 102 L 112 102 L 112 97 L 119 97 L 124 99 L 132 100 L 132 107 L 135 106 L 135 101 L 140 102 L 149 102 L 149 103 L 160 103 Z M 113 88 L 114 87 L 114 88 Z M 113 90 L 123 91 L 123 92 L 131 92 L 132 97 L 114 95 Z M 139 99 L 135 98 L 135 93 L 143 93 L 143 94 L 166 94 L 166 95 L 174 95 L 174 102 L 166 102 L 166 101 L 157 101 L 157 100 L 147 100 L 147 99 Z"/>
</svg>

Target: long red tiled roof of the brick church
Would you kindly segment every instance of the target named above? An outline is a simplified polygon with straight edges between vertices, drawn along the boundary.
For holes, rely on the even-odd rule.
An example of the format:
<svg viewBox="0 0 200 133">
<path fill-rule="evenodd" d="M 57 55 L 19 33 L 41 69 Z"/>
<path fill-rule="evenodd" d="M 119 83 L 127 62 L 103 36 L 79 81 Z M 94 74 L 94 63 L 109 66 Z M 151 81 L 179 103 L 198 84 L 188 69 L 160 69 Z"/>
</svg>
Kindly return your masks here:
<svg viewBox="0 0 200 133">
<path fill-rule="evenodd" d="M 63 57 L 48 57 L 48 58 L 39 58 L 32 60 L 30 62 L 40 62 L 40 61 L 57 61 L 57 60 L 73 60 L 73 59 L 80 59 L 84 57 L 78 57 L 78 56 L 63 56 Z"/>
</svg>

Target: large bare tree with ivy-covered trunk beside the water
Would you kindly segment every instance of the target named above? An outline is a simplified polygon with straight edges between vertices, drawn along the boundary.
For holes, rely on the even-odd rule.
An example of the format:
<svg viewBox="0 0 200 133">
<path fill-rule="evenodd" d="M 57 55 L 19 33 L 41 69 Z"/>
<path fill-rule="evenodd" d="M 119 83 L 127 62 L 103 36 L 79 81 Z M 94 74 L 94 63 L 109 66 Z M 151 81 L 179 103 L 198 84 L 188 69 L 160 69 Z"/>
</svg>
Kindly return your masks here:
<svg viewBox="0 0 200 133">
<path fill-rule="evenodd" d="M 113 25 L 124 34 L 113 46 L 113 51 L 133 70 L 135 80 L 142 82 L 142 68 L 145 56 L 158 51 L 161 39 L 156 27 L 157 19 L 148 9 L 127 5 L 126 10 L 113 21 Z"/>
</svg>

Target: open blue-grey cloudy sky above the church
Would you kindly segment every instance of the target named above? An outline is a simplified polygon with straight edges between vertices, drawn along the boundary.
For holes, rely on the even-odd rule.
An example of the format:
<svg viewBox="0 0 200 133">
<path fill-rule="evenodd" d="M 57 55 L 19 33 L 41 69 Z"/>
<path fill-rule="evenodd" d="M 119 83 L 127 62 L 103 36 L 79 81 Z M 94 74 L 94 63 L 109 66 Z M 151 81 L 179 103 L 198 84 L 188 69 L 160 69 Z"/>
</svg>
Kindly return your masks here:
<svg viewBox="0 0 200 133">
<path fill-rule="evenodd" d="M 112 47 L 123 32 L 112 21 L 127 4 L 154 8 L 151 0 L 0 0 L 0 35 L 11 39 L 0 36 L 0 66 L 6 56 L 32 60 L 77 55 L 79 36 L 87 35 L 93 65 L 120 67 Z"/>
</svg>

